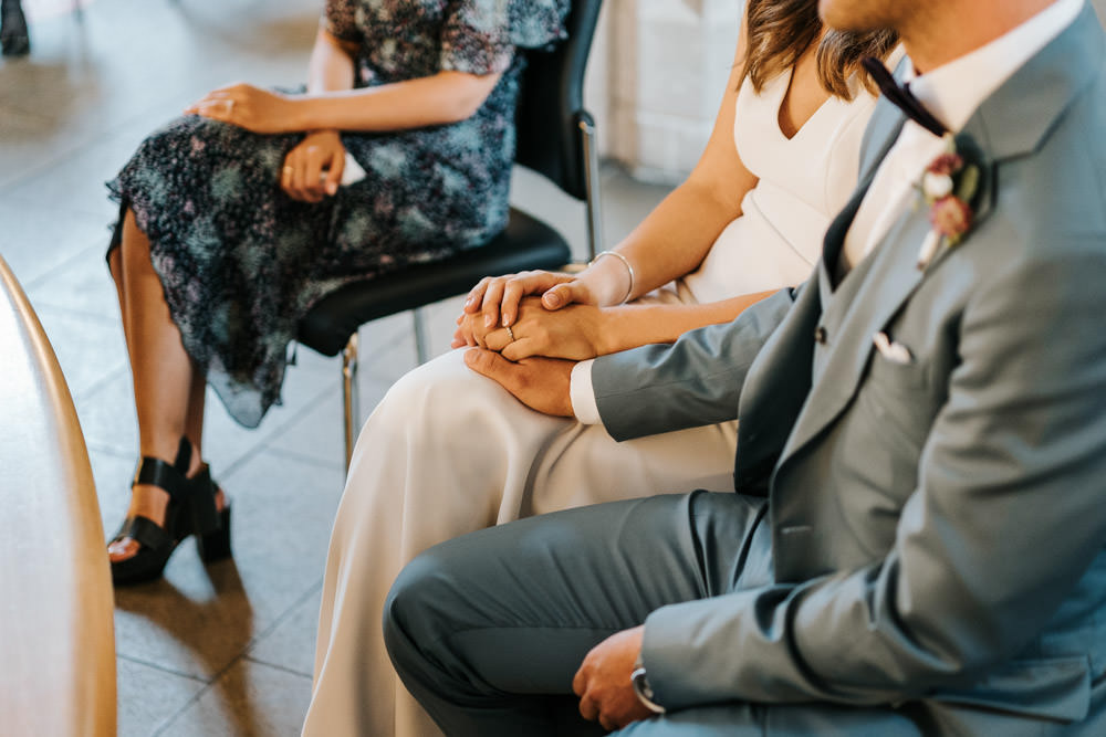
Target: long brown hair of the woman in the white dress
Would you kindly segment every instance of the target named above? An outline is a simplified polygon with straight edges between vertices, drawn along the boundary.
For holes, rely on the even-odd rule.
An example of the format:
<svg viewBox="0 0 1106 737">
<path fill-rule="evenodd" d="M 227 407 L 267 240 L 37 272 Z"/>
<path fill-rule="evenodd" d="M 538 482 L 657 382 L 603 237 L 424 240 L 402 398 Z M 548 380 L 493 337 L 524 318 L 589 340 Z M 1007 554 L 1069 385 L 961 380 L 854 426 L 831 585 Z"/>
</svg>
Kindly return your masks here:
<svg viewBox="0 0 1106 737">
<path fill-rule="evenodd" d="M 822 19 L 817 0 L 748 0 L 745 6 L 744 74 L 760 92 L 764 83 L 794 66 L 818 35 Z M 854 73 L 869 92 L 875 85 L 860 67 L 865 56 L 884 59 L 898 43 L 894 31 L 837 31 L 830 29 L 818 42 L 815 60 L 818 82 L 831 94 L 853 98 L 848 80 Z"/>
</svg>

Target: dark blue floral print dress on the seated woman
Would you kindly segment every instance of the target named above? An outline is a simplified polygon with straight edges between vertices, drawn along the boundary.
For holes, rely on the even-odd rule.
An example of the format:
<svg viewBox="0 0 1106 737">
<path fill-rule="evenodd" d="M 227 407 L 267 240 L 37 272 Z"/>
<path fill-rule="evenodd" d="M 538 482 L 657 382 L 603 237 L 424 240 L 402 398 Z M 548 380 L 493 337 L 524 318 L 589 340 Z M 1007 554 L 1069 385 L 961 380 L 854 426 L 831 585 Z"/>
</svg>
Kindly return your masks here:
<svg viewBox="0 0 1106 737">
<path fill-rule="evenodd" d="M 564 36 L 568 0 L 327 0 L 324 22 L 358 48 L 357 86 L 452 70 L 502 73 L 460 123 L 343 133 L 366 171 L 317 204 L 280 189 L 303 138 L 186 116 L 147 138 L 108 182 L 149 238 L 185 349 L 230 414 L 257 427 L 280 401 L 288 346 L 338 286 L 478 246 L 507 224 L 515 49 Z"/>
</svg>

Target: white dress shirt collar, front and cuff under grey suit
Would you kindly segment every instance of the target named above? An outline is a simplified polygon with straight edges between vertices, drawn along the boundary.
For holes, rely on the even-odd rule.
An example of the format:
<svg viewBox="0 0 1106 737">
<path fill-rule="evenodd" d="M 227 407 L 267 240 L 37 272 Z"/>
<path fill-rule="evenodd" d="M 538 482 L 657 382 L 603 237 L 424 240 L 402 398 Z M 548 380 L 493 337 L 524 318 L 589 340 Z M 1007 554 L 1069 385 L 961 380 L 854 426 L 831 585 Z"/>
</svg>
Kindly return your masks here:
<svg viewBox="0 0 1106 737">
<path fill-rule="evenodd" d="M 925 74 L 908 72 L 910 92 L 947 128 L 960 130 L 991 93 L 1075 21 L 1084 3 L 1085 0 L 1056 0 L 969 54 Z M 940 137 L 912 120 L 906 122 L 845 234 L 842 255 L 846 269 L 859 263 L 879 244 L 907 207 L 926 167 L 943 149 Z M 581 361 L 573 367 L 570 385 L 573 412 L 585 424 L 602 421 L 592 389 L 592 362 Z"/>
</svg>

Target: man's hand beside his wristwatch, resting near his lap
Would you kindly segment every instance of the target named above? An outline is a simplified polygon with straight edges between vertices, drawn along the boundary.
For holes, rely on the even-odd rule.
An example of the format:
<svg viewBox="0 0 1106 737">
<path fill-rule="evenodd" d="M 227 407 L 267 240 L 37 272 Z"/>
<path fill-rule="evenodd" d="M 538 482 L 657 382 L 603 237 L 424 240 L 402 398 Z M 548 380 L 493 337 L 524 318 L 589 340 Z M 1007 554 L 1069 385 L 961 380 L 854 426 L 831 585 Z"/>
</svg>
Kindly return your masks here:
<svg viewBox="0 0 1106 737">
<path fill-rule="evenodd" d="M 572 680 L 572 689 L 580 696 L 580 714 L 585 719 L 598 719 L 604 729 L 614 731 L 653 716 L 638 701 L 630 682 L 644 636 L 644 624 L 623 630 L 592 647 L 584 657 Z"/>
</svg>

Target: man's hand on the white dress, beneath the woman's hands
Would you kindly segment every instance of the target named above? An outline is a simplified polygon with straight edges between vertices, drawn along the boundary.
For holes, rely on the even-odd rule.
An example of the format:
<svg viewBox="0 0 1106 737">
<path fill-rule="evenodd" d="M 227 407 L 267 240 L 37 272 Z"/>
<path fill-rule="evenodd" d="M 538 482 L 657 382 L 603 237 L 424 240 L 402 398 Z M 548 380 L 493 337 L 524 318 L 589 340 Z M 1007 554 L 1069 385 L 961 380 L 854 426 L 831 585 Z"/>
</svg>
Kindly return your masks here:
<svg viewBox="0 0 1106 737">
<path fill-rule="evenodd" d="M 575 361 L 523 358 L 509 361 L 493 350 L 473 348 L 465 362 L 477 373 L 499 382 L 526 407 L 556 417 L 572 417 L 568 383 Z"/>
</svg>

